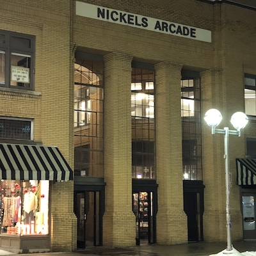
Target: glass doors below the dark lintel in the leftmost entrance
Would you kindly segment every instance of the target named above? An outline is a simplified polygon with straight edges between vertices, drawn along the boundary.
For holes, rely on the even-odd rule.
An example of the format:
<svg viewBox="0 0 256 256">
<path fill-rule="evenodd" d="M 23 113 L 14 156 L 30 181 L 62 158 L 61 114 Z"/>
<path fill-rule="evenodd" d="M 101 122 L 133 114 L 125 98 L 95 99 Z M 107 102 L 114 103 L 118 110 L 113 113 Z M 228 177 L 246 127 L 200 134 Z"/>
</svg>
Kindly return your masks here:
<svg viewBox="0 0 256 256">
<path fill-rule="evenodd" d="M 102 245 L 102 214 L 99 191 L 76 191 L 77 247 Z"/>
</svg>

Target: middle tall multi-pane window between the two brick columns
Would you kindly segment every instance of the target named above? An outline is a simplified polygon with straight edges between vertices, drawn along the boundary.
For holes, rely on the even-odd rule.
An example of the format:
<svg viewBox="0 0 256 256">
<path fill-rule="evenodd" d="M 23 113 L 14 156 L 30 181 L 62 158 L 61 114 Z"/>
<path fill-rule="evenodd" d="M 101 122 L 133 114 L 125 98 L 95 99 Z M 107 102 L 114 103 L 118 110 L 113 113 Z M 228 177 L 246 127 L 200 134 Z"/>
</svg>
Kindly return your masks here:
<svg viewBox="0 0 256 256">
<path fill-rule="evenodd" d="M 154 68 L 132 68 L 132 178 L 156 179 Z"/>
</svg>

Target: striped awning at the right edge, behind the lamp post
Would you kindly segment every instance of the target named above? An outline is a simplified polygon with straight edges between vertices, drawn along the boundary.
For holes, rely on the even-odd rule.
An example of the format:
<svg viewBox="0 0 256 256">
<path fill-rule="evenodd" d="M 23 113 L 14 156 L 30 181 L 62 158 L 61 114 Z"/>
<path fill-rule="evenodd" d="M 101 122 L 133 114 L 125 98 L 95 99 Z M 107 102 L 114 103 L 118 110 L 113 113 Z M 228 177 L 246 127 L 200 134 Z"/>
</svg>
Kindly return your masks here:
<svg viewBox="0 0 256 256">
<path fill-rule="evenodd" d="M 256 185 L 256 159 L 237 158 L 237 184 Z"/>
</svg>

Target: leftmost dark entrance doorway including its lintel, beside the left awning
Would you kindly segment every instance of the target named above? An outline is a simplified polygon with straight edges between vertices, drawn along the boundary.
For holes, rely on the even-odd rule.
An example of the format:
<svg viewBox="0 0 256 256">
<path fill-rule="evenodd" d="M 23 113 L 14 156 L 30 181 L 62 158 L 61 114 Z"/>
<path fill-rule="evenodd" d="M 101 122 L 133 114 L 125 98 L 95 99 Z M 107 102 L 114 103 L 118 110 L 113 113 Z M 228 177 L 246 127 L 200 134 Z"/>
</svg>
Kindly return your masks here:
<svg viewBox="0 0 256 256">
<path fill-rule="evenodd" d="M 102 246 L 104 188 L 102 179 L 75 177 L 74 212 L 77 216 L 77 248 Z"/>
</svg>

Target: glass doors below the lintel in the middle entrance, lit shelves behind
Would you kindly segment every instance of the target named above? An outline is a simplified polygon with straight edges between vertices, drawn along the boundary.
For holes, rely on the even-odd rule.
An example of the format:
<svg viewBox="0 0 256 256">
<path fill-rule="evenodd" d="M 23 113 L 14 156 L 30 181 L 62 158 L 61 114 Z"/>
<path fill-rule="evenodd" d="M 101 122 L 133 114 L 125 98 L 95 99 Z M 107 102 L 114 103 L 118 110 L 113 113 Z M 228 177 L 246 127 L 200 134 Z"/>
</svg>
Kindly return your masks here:
<svg viewBox="0 0 256 256">
<path fill-rule="evenodd" d="M 156 243 L 156 218 L 153 210 L 153 193 L 133 193 L 133 212 L 136 216 L 136 244 L 142 241 Z"/>
</svg>

